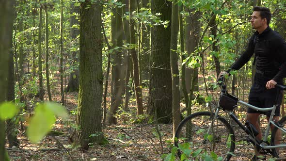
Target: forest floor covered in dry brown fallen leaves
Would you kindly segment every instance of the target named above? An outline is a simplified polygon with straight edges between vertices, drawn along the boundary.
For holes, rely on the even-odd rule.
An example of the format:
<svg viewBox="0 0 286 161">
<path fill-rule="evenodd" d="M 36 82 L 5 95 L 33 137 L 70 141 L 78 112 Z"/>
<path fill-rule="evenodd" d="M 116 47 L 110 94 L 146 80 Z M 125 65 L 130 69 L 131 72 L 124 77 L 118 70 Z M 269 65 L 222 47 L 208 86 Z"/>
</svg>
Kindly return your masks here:
<svg viewBox="0 0 286 161">
<path fill-rule="evenodd" d="M 162 161 L 161 156 L 170 153 L 173 144 L 172 124 L 158 125 L 162 134 L 160 142 L 155 130 L 156 124 L 144 122 L 132 124 L 130 118 L 133 116 L 124 114 L 118 118 L 116 125 L 107 125 L 103 129 L 109 141 L 108 145 L 93 145 L 87 152 L 80 151 L 79 147 L 73 147 L 67 136 L 71 134 L 71 127 L 75 125 L 77 96 L 78 93 L 67 94 L 65 107 L 70 113 L 70 119 L 57 120 L 53 127 L 53 130 L 64 132 L 64 135 L 46 136 L 39 144 L 32 144 L 24 135 L 25 128 L 23 131 L 19 129 L 17 135 L 19 147 L 8 147 L 6 144 L 11 161 Z M 59 101 L 60 97 L 53 99 Z M 130 108 L 135 109 L 135 104 L 135 100 L 131 99 Z M 28 106 L 28 111 L 33 111 L 32 105 Z M 238 129 L 235 131 L 238 143 L 234 152 L 236 156 L 232 157 L 231 161 L 249 161 L 254 155 L 254 148 L 241 141 L 241 138 L 245 137 L 242 131 Z"/>
</svg>

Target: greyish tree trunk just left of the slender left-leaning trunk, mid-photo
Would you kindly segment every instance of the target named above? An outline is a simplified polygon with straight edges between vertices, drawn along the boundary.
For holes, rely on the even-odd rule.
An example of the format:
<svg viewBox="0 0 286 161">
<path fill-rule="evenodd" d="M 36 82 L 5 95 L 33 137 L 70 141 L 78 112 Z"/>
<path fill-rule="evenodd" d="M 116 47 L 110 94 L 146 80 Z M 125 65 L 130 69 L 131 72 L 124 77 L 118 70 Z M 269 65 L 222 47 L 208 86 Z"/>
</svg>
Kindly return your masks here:
<svg viewBox="0 0 286 161">
<path fill-rule="evenodd" d="M 120 2 L 121 0 L 119 0 Z M 116 12 L 121 14 L 122 8 L 116 8 Z M 116 21 L 116 27 L 114 31 L 115 34 L 115 40 L 116 40 L 116 46 L 122 48 L 123 41 L 123 26 L 122 26 L 122 19 L 121 15 L 115 14 L 115 21 Z M 111 31 L 113 32 L 113 31 Z M 113 38 L 112 38 L 113 39 Z M 114 114 L 116 113 L 118 107 L 120 104 L 122 104 L 121 95 L 122 95 L 122 79 L 121 79 L 121 59 L 122 59 L 122 51 L 117 50 L 115 52 L 116 55 L 113 56 L 114 59 L 114 65 L 112 68 L 112 79 L 114 81 L 114 87 L 112 90 L 112 96 L 111 96 L 111 108 L 108 116 L 108 123 L 110 124 L 116 124 L 116 117 Z"/>
</svg>

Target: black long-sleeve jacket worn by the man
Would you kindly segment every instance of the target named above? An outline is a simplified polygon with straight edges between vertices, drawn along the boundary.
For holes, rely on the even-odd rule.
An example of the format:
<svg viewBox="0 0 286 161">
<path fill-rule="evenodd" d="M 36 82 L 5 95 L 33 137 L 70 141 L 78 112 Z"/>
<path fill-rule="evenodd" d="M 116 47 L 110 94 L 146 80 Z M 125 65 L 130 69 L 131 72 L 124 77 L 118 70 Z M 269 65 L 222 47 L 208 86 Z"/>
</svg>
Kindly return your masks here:
<svg viewBox="0 0 286 161">
<path fill-rule="evenodd" d="M 253 54 L 255 54 L 256 70 L 271 73 L 273 77 L 271 79 L 276 82 L 281 82 L 286 77 L 286 43 L 278 32 L 270 27 L 261 34 L 254 32 L 249 39 L 248 47 L 227 72 L 240 69 Z"/>
</svg>

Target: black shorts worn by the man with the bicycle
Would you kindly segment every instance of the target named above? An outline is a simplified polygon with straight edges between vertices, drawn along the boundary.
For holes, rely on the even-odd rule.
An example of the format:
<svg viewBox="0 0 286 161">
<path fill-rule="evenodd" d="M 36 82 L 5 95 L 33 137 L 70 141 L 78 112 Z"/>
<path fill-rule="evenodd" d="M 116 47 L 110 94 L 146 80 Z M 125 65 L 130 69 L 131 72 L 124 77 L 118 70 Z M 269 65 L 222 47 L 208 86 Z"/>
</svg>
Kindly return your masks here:
<svg viewBox="0 0 286 161">
<path fill-rule="evenodd" d="M 279 98 L 277 100 L 278 102 L 274 116 L 280 116 L 280 105 L 282 101 L 283 91 L 278 90 L 277 88 L 267 89 L 265 85 L 262 86 L 254 82 L 250 89 L 248 103 L 259 108 L 273 107 L 277 94 L 279 94 Z M 263 113 L 270 117 L 271 111 L 261 112 L 252 108 L 248 108 L 247 113 Z"/>
</svg>

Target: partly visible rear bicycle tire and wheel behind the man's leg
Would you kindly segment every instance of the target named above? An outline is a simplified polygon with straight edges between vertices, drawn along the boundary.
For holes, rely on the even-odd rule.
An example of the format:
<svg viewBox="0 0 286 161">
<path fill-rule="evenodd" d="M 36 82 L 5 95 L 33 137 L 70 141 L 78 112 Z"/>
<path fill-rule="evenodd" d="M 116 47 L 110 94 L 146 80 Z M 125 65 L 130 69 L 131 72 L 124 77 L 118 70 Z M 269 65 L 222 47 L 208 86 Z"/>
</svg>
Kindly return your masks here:
<svg viewBox="0 0 286 161">
<path fill-rule="evenodd" d="M 277 123 L 276 125 L 278 125 L 279 127 L 283 128 L 286 130 L 286 116 L 282 117 Z M 270 145 L 274 146 L 276 145 L 276 133 L 281 132 L 281 139 L 277 140 L 277 143 L 279 144 L 286 144 L 286 133 L 278 130 L 278 128 L 274 128 L 273 131 L 271 132 L 271 140 L 270 140 Z M 272 155 L 273 157 L 276 158 L 286 158 L 286 147 L 281 147 L 279 148 L 279 150 L 277 150 L 276 148 L 271 149 L 272 151 Z"/>
</svg>

